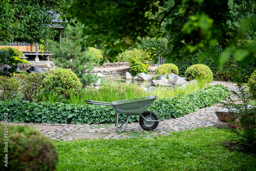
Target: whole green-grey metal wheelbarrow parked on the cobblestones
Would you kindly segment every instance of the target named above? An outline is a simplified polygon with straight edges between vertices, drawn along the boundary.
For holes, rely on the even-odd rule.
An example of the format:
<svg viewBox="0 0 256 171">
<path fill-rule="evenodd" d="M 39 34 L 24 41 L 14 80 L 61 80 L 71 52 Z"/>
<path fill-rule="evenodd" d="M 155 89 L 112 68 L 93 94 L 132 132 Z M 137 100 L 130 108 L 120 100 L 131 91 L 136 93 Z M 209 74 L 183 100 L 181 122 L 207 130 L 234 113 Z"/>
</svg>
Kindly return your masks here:
<svg viewBox="0 0 256 171">
<path fill-rule="evenodd" d="M 113 101 L 112 103 L 109 102 L 102 102 L 102 101 L 92 101 L 92 100 L 84 100 L 87 104 L 94 104 L 94 105 L 107 105 L 112 106 L 116 111 L 115 115 L 115 126 L 118 132 L 123 132 L 129 119 L 133 115 L 140 115 L 139 123 L 143 130 L 152 131 L 155 130 L 158 126 L 158 122 L 161 121 L 158 119 L 158 116 L 155 112 L 152 111 L 145 111 L 158 96 L 146 96 L 144 100 L 132 101 L 132 102 L 125 102 L 126 100 L 119 100 Z M 125 119 L 120 124 L 118 123 L 119 120 L 119 113 L 126 114 Z M 125 124 L 124 124 L 125 123 Z M 124 124 L 124 126 L 123 126 Z M 123 126 L 123 128 L 121 128 Z"/>
</svg>

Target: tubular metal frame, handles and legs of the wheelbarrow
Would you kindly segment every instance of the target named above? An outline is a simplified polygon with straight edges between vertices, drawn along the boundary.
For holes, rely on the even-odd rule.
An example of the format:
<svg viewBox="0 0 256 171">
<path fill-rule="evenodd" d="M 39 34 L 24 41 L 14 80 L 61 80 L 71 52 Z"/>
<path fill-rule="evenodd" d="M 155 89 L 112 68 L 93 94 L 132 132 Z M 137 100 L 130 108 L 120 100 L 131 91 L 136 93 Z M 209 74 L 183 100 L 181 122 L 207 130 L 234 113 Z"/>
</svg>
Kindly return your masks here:
<svg viewBox="0 0 256 171">
<path fill-rule="evenodd" d="M 124 131 L 127 123 L 129 122 L 129 119 L 133 115 L 139 115 L 146 122 L 161 121 L 159 119 L 158 120 L 153 120 L 153 119 L 148 120 L 142 115 L 149 106 L 152 107 L 153 102 L 155 101 L 155 99 L 158 98 L 158 96 L 146 96 L 145 98 L 147 98 L 147 99 L 132 101 L 132 102 L 125 102 L 127 100 L 126 99 L 126 100 L 113 101 L 112 103 L 103 102 L 103 101 L 93 101 L 93 100 L 84 100 L 84 101 L 86 101 L 87 104 L 112 106 L 116 112 L 116 114 L 115 114 L 116 130 L 121 133 Z M 119 121 L 119 113 L 126 114 L 125 119 L 123 120 L 123 122 L 120 125 L 118 122 Z M 150 118 L 152 118 L 152 114 L 153 114 L 153 112 L 150 111 Z M 124 124 L 124 126 L 123 126 L 123 124 Z M 122 126 L 123 126 L 123 128 L 121 130 L 119 130 Z M 142 127 L 142 129 L 144 129 L 144 128 Z"/>
</svg>

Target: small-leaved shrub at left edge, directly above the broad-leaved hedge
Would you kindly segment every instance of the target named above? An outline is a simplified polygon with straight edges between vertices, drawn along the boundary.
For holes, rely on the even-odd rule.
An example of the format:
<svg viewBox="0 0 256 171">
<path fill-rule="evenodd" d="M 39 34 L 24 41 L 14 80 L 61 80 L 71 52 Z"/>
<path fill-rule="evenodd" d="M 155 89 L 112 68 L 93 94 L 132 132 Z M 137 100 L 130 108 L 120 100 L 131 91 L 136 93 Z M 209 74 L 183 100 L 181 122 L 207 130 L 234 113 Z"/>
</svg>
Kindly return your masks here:
<svg viewBox="0 0 256 171">
<path fill-rule="evenodd" d="M 0 100 L 21 100 L 23 84 L 20 82 L 25 75 L 11 74 L 11 77 L 0 76 Z"/>
</svg>

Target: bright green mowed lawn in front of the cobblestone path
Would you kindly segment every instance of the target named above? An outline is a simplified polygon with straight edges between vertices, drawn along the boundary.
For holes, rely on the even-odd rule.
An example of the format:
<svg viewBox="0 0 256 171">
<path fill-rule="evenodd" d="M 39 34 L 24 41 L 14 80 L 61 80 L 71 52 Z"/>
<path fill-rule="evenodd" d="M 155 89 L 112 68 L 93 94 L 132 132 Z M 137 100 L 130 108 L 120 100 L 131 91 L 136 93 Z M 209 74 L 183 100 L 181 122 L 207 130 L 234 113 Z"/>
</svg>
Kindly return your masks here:
<svg viewBox="0 0 256 171">
<path fill-rule="evenodd" d="M 155 138 L 53 141 L 56 170 L 256 170 L 256 156 L 221 145 L 230 135 L 214 127 Z"/>
</svg>

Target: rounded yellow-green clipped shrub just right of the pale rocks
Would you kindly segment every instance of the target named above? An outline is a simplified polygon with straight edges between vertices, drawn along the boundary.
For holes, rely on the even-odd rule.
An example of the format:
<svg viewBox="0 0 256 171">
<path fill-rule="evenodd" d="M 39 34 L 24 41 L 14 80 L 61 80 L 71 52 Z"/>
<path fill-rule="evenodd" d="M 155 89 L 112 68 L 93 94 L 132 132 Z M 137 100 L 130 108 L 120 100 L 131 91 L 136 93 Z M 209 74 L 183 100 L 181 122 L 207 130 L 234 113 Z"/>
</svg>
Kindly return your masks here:
<svg viewBox="0 0 256 171">
<path fill-rule="evenodd" d="M 214 80 L 214 76 L 209 67 L 203 64 L 196 64 L 187 68 L 185 72 L 187 80 L 193 80 L 196 77 L 208 78 L 209 81 Z"/>
</svg>

